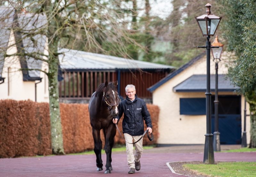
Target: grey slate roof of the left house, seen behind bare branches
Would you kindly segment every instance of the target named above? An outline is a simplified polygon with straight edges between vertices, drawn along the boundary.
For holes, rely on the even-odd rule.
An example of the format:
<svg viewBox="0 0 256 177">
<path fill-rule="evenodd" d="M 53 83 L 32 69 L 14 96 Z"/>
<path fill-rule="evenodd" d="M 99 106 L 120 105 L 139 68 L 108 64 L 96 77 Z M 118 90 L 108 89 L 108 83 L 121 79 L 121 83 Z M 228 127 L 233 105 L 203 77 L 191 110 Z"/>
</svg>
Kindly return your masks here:
<svg viewBox="0 0 256 177">
<path fill-rule="evenodd" d="M 0 17 L 4 18 L 5 16 L 12 17 L 14 15 L 13 8 L 8 8 L 1 6 L 0 7 Z M 0 21 L 0 41 L 2 51 L 0 52 L 0 78 L 2 77 L 2 71 L 4 66 L 4 53 L 8 48 L 8 42 L 10 38 L 10 32 L 13 25 L 14 20 L 19 23 L 20 29 L 23 31 L 28 31 L 31 29 L 39 29 L 40 27 L 45 27 L 47 21 L 46 16 L 44 15 L 33 15 L 27 13 L 26 15 L 18 14 L 17 17 L 6 18 Z M 36 53 L 44 53 L 44 47 L 46 43 L 46 36 L 37 34 L 32 37 L 25 38 L 24 35 L 15 35 L 15 40 L 20 38 L 22 42 L 20 43 L 22 51 L 24 53 L 36 52 Z M 32 41 L 32 40 L 33 41 Z M 28 69 L 41 69 L 42 61 L 35 60 L 32 57 L 25 56 L 25 58 L 20 57 L 20 64 L 22 68 Z M 41 80 L 40 71 L 39 70 L 22 70 L 23 80 Z"/>
</svg>

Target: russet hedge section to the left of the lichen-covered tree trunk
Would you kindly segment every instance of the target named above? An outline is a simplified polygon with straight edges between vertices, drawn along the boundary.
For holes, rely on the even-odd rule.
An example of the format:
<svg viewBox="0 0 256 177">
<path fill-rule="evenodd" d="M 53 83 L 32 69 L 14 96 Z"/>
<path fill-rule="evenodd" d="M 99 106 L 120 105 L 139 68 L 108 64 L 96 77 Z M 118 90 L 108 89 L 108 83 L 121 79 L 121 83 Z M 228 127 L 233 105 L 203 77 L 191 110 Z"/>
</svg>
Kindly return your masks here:
<svg viewBox="0 0 256 177">
<path fill-rule="evenodd" d="M 52 153 L 47 103 L 1 100 L 0 110 L 0 158 Z"/>
</svg>

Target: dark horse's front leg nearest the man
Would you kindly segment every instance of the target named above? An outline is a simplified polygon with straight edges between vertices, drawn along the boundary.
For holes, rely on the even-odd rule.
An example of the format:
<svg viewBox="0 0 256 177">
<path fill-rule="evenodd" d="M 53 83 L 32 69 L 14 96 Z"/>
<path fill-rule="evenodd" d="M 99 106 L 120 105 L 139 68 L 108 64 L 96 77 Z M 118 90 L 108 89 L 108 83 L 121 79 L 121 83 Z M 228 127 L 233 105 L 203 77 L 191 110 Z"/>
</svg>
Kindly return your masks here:
<svg viewBox="0 0 256 177">
<path fill-rule="evenodd" d="M 107 129 L 105 129 L 105 152 L 107 155 L 107 161 L 106 161 L 106 170 L 105 173 L 111 173 L 111 170 L 113 170 L 111 162 L 111 154 L 112 154 L 112 147 L 114 145 L 114 137 L 116 135 L 116 127 L 115 124 L 110 124 Z"/>
</svg>

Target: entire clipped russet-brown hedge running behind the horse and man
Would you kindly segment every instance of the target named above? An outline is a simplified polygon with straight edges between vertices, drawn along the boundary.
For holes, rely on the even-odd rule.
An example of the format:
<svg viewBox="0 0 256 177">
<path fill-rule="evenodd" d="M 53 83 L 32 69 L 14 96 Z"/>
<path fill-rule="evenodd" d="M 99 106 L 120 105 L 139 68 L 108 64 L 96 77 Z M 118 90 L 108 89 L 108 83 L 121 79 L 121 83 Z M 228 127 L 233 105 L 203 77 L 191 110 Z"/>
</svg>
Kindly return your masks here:
<svg viewBox="0 0 256 177">
<path fill-rule="evenodd" d="M 155 144 L 158 138 L 159 108 L 151 104 L 147 106 L 152 118 L 154 141 L 150 142 L 144 136 L 144 145 Z M 92 150 L 94 143 L 88 104 L 60 103 L 60 115 L 65 153 Z M 122 121 L 123 118 L 118 123 L 121 132 Z M 101 139 L 104 145 L 102 133 Z M 117 131 L 115 143 L 124 144 Z M 50 154 L 49 104 L 31 100 L 0 100 L 0 158 Z"/>
</svg>

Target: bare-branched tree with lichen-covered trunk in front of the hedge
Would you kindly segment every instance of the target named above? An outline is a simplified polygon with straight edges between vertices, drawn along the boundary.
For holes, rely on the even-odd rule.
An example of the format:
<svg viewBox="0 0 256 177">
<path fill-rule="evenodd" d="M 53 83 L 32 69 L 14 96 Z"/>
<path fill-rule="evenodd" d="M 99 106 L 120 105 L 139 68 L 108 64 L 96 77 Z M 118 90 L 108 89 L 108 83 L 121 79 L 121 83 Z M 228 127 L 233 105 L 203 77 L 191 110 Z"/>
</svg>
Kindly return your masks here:
<svg viewBox="0 0 256 177">
<path fill-rule="evenodd" d="M 10 5 L 13 7 L 12 1 L 9 1 L 9 7 Z M 14 55 L 20 57 L 21 65 L 28 60 L 33 61 L 34 65 L 30 68 L 22 69 L 24 73 L 36 70 L 44 72 L 48 77 L 54 154 L 64 153 L 58 92 L 58 56 L 62 54 L 59 48 L 68 43 L 75 44 L 77 38 L 82 38 L 87 51 L 104 51 L 102 41 L 108 41 L 118 44 L 119 53 L 126 53 L 124 41 L 134 44 L 136 42 L 129 37 L 130 31 L 123 25 L 128 22 L 120 18 L 124 16 L 120 7 L 119 1 L 115 0 L 28 0 L 23 1 L 22 6 L 14 8 L 16 11 L 20 11 L 20 8 L 26 9 L 24 14 L 14 13 L 13 45 L 18 49 Z M 47 41 L 48 54 L 40 50 L 44 48 L 42 41 Z M 47 63 L 49 70 L 36 68 L 38 63 Z"/>
</svg>

